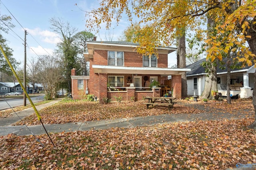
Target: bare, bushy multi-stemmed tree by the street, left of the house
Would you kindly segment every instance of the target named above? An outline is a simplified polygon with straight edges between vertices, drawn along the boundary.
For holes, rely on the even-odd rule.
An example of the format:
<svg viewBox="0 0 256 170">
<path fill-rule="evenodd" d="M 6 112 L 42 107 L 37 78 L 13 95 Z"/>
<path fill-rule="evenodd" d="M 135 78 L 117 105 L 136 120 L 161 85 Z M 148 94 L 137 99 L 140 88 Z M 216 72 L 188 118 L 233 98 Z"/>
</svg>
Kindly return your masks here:
<svg viewBox="0 0 256 170">
<path fill-rule="evenodd" d="M 46 100 L 55 99 L 58 85 L 62 81 L 62 64 L 60 58 L 42 55 L 39 61 L 38 79 L 44 86 L 45 98 Z"/>
</svg>

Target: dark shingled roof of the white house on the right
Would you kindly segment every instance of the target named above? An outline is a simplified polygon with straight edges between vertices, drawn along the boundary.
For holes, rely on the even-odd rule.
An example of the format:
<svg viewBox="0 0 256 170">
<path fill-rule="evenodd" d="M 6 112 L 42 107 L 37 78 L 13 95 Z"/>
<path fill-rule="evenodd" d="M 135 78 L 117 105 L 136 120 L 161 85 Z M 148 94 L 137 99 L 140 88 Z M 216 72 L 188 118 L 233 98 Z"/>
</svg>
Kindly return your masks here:
<svg viewBox="0 0 256 170">
<path fill-rule="evenodd" d="M 201 59 L 193 64 L 190 64 L 186 66 L 186 68 L 190 68 L 191 71 L 186 72 L 187 76 L 195 76 L 195 75 L 202 75 L 206 74 L 204 67 L 201 66 L 201 64 L 206 61 L 206 58 Z M 223 59 L 224 63 L 226 63 L 226 59 Z M 245 72 L 247 70 L 252 69 L 253 66 L 245 66 L 243 68 L 234 68 L 231 70 L 231 72 Z M 225 74 L 227 72 L 227 67 L 224 66 L 224 69 L 221 69 L 219 66 L 217 67 L 217 74 Z"/>
</svg>

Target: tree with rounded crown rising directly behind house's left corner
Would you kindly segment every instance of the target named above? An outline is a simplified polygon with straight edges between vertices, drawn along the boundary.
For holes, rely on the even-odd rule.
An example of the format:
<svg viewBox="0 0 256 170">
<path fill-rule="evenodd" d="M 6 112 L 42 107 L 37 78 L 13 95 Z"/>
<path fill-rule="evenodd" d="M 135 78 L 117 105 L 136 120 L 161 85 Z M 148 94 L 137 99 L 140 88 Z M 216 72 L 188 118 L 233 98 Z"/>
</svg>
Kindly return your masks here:
<svg viewBox="0 0 256 170">
<path fill-rule="evenodd" d="M 90 62 L 85 61 L 83 53 L 88 52 L 87 49 L 87 41 L 92 41 L 95 35 L 93 33 L 87 31 L 80 31 L 76 33 L 74 36 L 74 44 L 77 45 L 78 53 L 80 57 L 78 57 L 81 71 L 77 74 L 88 76 L 90 75 Z"/>
</svg>

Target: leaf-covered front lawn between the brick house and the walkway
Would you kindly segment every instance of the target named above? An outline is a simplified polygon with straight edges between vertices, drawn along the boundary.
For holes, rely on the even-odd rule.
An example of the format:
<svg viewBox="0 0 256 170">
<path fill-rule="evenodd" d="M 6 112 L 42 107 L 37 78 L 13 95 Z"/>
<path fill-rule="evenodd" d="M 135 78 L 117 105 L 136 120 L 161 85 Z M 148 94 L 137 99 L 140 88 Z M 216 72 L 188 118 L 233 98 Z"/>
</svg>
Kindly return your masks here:
<svg viewBox="0 0 256 170">
<path fill-rule="evenodd" d="M 40 115 L 44 124 L 58 124 L 70 123 L 79 121 L 93 121 L 102 119 L 117 119 L 117 118 L 130 118 L 142 117 L 150 115 L 161 114 L 179 114 L 200 113 L 202 110 L 196 109 L 191 106 L 184 106 L 182 104 L 174 104 L 171 110 L 167 107 L 157 106 L 154 108 L 146 109 L 143 102 L 124 102 L 124 103 L 109 103 L 99 104 L 96 102 L 60 102 L 53 106 L 40 110 Z M 26 125 L 39 125 L 36 115 L 31 115 L 23 119 Z M 15 123 L 14 125 L 23 125 L 23 122 Z"/>
</svg>

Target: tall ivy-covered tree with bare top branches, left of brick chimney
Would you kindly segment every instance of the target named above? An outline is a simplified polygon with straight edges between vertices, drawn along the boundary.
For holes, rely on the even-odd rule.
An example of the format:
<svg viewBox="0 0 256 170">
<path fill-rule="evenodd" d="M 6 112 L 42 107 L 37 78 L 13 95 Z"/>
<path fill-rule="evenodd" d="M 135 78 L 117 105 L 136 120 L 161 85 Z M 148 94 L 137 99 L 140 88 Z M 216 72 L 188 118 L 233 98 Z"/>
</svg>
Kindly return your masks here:
<svg viewBox="0 0 256 170">
<path fill-rule="evenodd" d="M 71 92 L 71 70 L 72 68 L 80 69 L 77 55 L 78 48 L 74 44 L 74 35 L 77 31 L 76 28 L 70 26 L 70 23 L 64 22 L 61 18 L 51 18 L 51 29 L 60 35 L 61 42 L 58 43 L 56 55 L 59 55 L 64 63 L 63 75 L 65 76 L 62 84 L 67 84 L 66 88 L 68 92 Z"/>
</svg>

